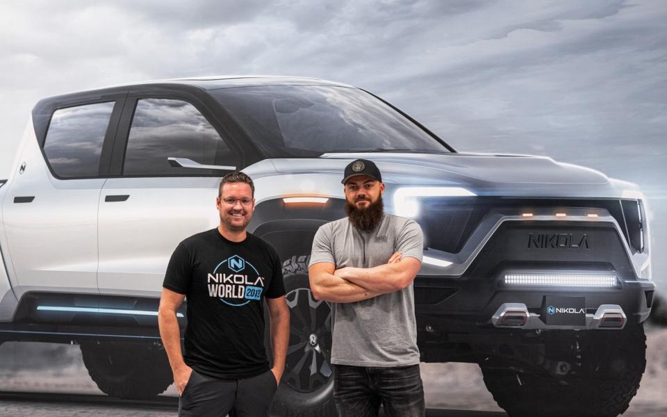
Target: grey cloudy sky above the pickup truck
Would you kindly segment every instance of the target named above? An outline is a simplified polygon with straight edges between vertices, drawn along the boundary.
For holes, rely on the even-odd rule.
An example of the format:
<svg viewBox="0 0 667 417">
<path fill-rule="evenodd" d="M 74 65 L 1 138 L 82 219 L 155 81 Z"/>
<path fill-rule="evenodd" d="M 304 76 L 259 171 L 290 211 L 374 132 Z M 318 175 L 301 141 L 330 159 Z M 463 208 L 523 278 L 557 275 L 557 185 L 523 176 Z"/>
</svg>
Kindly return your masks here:
<svg viewBox="0 0 667 417">
<path fill-rule="evenodd" d="M 2 1 L 0 68 L 0 178 L 47 95 L 313 76 L 381 95 L 461 151 L 549 155 L 639 183 L 654 254 L 667 251 L 664 1 Z M 667 261 L 654 275 L 667 284 Z"/>
</svg>

